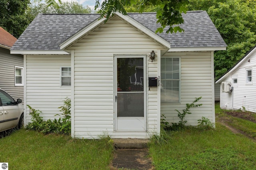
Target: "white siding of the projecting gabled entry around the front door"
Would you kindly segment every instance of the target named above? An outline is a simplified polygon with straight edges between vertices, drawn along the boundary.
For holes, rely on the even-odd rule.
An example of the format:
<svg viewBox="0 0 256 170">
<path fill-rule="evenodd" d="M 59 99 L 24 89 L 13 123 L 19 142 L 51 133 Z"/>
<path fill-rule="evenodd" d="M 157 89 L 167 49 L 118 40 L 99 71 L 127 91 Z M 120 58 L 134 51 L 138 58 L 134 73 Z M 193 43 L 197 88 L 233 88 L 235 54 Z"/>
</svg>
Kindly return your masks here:
<svg viewBox="0 0 256 170">
<path fill-rule="evenodd" d="M 161 48 L 118 17 L 69 48 L 74 50 L 74 137 L 147 137 L 146 132 L 114 132 L 114 55 L 145 55 Z M 147 69 L 147 76 L 157 76 L 157 61 L 148 62 Z M 150 88 L 146 100 L 148 131 L 154 131 L 159 114 L 156 88 Z"/>
</svg>

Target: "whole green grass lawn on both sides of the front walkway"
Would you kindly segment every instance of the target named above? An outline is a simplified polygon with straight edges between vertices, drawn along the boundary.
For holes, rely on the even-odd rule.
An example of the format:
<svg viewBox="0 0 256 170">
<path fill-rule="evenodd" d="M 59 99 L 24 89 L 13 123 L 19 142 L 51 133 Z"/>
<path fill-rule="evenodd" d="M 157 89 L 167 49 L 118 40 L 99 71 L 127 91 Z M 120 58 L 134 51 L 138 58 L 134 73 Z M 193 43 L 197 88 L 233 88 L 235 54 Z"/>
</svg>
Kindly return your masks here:
<svg viewBox="0 0 256 170">
<path fill-rule="evenodd" d="M 237 120 L 216 107 L 216 129 L 167 131 L 158 140 L 162 142 L 149 144 L 156 170 L 256 170 L 256 142 L 232 133 L 218 119 L 227 117 L 252 134 L 256 123 Z M 0 139 L 0 162 L 13 170 L 109 170 L 114 150 L 108 141 L 21 129 Z"/>
</svg>

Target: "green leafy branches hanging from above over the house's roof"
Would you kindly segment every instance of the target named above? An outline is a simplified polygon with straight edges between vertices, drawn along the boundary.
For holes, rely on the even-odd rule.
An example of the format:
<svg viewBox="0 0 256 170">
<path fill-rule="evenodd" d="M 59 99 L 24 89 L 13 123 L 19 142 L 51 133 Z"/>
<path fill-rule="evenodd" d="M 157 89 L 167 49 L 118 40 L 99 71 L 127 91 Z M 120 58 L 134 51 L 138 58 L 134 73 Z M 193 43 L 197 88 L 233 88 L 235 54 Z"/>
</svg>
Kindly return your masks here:
<svg viewBox="0 0 256 170">
<path fill-rule="evenodd" d="M 162 33 L 167 26 L 166 33 L 181 32 L 184 31 L 178 25 L 184 22 L 182 19 L 182 12 L 186 13 L 188 0 L 105 0 L 100 4 L 101 0 L 96 0 L 95 10 L 99 9 L 101 18 L 108 18 L 113 12 L 120 12 L 124 15 L 126 13 L 126 6 L 136 5 L 138 12 L 144 12 L 148 6 L 157 6 L 156 12 L 157 23 L 160 23 L 161 27 L 156 30 L 156 33 Z M 106 20 L 106 21 L 107 21 Z"/>
</svg>

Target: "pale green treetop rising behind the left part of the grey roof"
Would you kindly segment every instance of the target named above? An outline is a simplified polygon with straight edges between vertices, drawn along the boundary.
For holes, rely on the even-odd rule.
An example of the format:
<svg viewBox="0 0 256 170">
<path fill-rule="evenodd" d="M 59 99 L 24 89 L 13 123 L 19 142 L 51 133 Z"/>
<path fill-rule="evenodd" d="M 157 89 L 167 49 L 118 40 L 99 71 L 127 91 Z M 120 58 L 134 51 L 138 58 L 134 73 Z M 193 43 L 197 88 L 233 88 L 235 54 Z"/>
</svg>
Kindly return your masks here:
<svg viewBox="0 0 256 170">
<path fill-rule="evenodd" d="M 31 7 L 30 13 L 32 16 L 36 17 L 39 13 L 47 14 L 86 14 L 92 13 L 92 10 L 89 6 L 82 6 L 78 2 L 62 2 L 57 3 L 57 6 L 49 6 L 48 4 L 38 4 Z"/>
</svg>

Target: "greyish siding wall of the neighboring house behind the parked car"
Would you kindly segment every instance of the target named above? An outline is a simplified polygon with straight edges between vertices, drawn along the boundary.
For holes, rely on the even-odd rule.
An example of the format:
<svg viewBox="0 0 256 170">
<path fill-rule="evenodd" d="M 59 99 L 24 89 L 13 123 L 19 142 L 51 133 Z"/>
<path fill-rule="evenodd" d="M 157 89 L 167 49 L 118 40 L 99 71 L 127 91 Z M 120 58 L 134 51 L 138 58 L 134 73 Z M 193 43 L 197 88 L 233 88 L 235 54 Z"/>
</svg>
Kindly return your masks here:
<svg viewBox="0 0 256 170">
<path fill-rule="evenodd" d="M 15 86 L 15 66 L 23 67 L 23 55 L 10 54 L 9 49 L 0 48 L 0 88 L 23 102 L 24 86 Z"/>
</svg>

